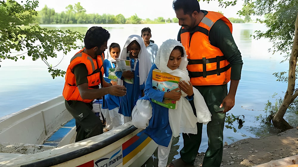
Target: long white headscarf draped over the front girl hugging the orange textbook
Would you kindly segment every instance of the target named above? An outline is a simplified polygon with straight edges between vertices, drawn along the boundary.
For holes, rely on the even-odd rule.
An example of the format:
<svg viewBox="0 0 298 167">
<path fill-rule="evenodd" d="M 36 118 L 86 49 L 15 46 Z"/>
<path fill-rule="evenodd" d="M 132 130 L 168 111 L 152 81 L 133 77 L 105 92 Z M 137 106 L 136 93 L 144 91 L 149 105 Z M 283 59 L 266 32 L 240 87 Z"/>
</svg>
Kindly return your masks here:
<svg viewBox="0 0 298 167">
<path fill-rule="evenodd" d="M 181 57 L 182 60 L 179 67 L 177 69 L 171 70 L 169 67 L 167 67 L 167 63 L 169 61 L 171 52 L 176 46 L 181 46 L 183 48 L 184 55 Z M 155 65 L 159 70 L 174 76 L 178 76 L 181 78 L 181 81 L 186 81 L 188 83 L 190 78 L 186 69 L 187 64 L 188 61 L 185 48 L 179 41 L 173 39 L 164 41 L 156 53 Z M 187 96 L 185 92 L 181 91 L 181 93 L 183 97 Z M 177 137 L 181 132 L 196 134 L 196 122 L 207 124 L 211 120 L 211 113 L 209 112 L 203 96 L 195 88 L 193 88 L 193 93 L 195 109 L 197 112 L 196 114 L 198 117 L 195 117 L 193 114 L 193 109 L 186 98 L 181 97 L 180 100 L 176 101 L 177 109 L 169 109 L 169 122 L 174 137 Z"/>
</svg>

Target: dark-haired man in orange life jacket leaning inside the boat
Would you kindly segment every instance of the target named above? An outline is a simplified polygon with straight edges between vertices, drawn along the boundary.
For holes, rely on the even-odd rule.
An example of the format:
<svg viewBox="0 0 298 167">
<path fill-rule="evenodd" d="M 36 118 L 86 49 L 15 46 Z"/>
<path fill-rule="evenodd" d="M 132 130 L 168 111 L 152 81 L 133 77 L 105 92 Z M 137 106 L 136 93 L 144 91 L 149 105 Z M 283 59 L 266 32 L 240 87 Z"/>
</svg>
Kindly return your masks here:
<svg viewBox="0 0 298 167">
<path fill-rule="evenodd" d="M 107 30 L 91 27 L 84 38 L 85 48 L 72 57 L 66 71 L 63 97 L 66 109 L 76 120 L 76 142 L 103 133 L 100 118 L 92 112 L 94 99 L 126 93 L 124 86 L 111 86 L 103 80 L 102 57 L 109 38 Z"/>
</svg>

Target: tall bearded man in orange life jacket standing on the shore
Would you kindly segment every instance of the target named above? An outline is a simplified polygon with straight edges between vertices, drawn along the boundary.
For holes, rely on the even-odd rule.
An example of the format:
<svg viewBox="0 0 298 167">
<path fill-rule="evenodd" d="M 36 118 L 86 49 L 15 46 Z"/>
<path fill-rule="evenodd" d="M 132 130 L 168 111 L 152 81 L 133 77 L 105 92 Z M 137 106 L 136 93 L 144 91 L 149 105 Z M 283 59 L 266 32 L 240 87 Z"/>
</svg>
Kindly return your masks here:
<svg viewBox="0 0 298 167">
<path fill-rule="evenodd" d="M 232 24 L 226 17 L 200 10 L 197 0 L 174 0 L 173 9 L 181 25 L 177 39 L 187 53 L 190 82 L 203 95 L 212 114 L 212 120 L 207 124 L 208 149 L 202 166 L 219 167 L 223 155 L 225 116 L 235 104 L 242 57 L 232 37 Z M 182 134 L 181 158 L 169 166 L 194 163 L 201 144 L 202 123 L 197 123 L 197 127 L 198 134 Z"/>
</svg>

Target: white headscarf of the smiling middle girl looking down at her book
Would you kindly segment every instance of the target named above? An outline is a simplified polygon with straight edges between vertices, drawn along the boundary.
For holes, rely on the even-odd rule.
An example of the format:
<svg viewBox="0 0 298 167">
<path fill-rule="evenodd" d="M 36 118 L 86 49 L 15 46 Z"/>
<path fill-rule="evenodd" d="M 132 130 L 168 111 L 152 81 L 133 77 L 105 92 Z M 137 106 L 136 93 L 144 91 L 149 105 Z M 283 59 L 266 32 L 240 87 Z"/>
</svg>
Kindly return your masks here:
<svg viewBox="0 0 298 167">
<path fill-rule="evenodd" d="M 139 52 L 138 58 L 139 58 L 140 85 L 142 85 L 143 83 L 146 83 L 148 73 L 151 69 L 150 55 L 149 55 L 148 51 L 146 50 L 143 38 L 139 35 L 129 36 L 126 40 L 126 43 L 125 43 L 120 55 L 119 55 L 119 58 L 126 60 L 127 47 L 134 40 L 136 40 L 141 46 L 141 50 Z M 118 71 L 117 67 L 116 67 L 115 71 Z"/>
</svg>

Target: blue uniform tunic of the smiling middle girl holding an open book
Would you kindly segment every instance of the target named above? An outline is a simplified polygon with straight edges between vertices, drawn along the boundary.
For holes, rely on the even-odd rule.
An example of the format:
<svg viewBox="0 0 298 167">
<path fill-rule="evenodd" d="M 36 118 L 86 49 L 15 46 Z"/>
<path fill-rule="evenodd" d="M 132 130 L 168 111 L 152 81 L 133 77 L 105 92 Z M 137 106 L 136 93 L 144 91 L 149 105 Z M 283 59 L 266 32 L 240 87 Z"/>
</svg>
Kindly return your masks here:
<svg viewBox="0 0 298 167">
<path fill-rule="evenodd" d="M 134 84 L 129 84 L 123 81 L 123 85 L 126 87 L 126 94 L 121 97 L 118 111 L 118 113 L 125 117 L 131 117 L 132 109 L 136 105 L 136 101 L 142 97 L 142 90 L 145 88 L 145 84 L 140 85 L 139 83 L 139 61 L 127 57 L 127 60 L 129 59 L 131 61 L 131 71 L 134 72 Z M 116 76 L 123 79 L 121 71 L 117 71 Z"/>
</svg>

